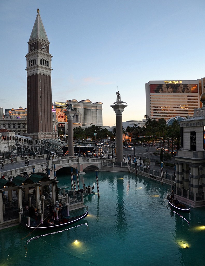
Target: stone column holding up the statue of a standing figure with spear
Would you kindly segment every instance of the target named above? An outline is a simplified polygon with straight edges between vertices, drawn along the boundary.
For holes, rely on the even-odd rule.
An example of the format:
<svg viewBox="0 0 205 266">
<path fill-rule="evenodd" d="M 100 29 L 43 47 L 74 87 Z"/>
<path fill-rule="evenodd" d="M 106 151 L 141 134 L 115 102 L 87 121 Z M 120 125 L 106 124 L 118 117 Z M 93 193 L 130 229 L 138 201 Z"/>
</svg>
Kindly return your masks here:
<svg viewBox="0 0 205 266">
<path fill-rule="evenodd" d="M 122 143 L 122 112 L 124 111 L 127 105 L 123 105 L 122 103 L 117 103 L 114 105 L 110 105 L 116 113 L 116 156 L 117 163 L 123 162 L 123 143 Z"/>
</svg>

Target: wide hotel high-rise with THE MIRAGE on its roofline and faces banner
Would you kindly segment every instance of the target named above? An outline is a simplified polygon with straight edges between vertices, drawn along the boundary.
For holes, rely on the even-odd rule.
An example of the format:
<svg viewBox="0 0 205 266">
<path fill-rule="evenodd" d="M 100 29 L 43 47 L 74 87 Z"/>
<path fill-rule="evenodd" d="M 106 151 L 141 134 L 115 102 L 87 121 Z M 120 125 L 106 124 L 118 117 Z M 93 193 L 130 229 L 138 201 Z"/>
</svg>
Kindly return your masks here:
<svg viewBox="0 0 205 266">
<path fill-rule="evenodd" d="M 198 80 L 158 80 L 146 83 L 146 114 L 152 119 L 191 117 L 202 107 L 205 78 Z"/>
</svg>

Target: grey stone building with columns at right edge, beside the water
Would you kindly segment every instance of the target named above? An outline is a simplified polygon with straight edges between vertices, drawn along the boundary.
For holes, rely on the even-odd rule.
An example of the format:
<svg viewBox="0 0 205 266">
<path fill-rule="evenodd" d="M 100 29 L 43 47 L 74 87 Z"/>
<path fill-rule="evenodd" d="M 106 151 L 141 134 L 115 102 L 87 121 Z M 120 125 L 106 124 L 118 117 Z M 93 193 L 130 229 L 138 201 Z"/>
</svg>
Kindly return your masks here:
<svg viewBox="0 0 205 266">
<path fill-rule="evenodd" d="M 180 122 L 181 146 L 176 155 L 176 197 L 193 207 L 205 206 L 205 107 Z"/>
</svg>

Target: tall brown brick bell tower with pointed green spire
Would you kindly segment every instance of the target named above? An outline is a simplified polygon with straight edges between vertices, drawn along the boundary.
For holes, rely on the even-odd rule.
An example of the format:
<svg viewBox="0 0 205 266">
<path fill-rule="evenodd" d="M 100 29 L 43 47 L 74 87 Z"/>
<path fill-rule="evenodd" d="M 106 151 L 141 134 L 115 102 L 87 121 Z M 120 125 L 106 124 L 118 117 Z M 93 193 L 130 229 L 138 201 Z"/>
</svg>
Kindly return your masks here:
<svg viewBox="0 0 205 266">
<path fill-rule="evenodd" d="M 53 133 L 51 58 L 49 40 L 40 11 L 28 41 L 27 62 L 27 136 L 34 140 L 57 138 Z M 46 133 L 46 136 L 45 136 Z M 56 136 L 55 136 L 56 135 Z"/>
</svg>

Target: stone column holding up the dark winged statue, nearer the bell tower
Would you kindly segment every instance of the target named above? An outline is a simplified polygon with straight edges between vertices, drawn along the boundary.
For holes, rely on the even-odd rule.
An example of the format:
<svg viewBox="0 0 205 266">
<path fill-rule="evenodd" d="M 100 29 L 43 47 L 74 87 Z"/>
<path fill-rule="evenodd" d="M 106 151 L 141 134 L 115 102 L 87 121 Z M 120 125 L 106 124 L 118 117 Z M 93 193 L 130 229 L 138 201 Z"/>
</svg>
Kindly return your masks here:
<svg viewBox="0 0 205 266">
<path fill-rule="evenodd" d="M 72 157 L 74 156 L 72 118 L 74 114 L 76 113 L 76 111 L 67 110 L 67 111 L 64 111 L 64 113 L 66 114 L 67 120 L 68 120 L 68 155 Z"/>
</svg>

